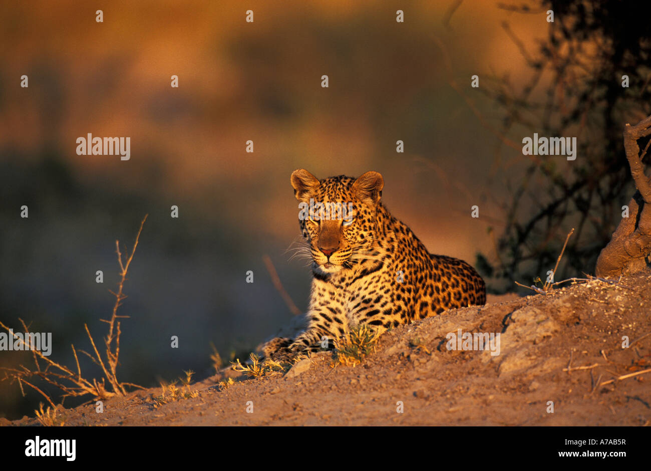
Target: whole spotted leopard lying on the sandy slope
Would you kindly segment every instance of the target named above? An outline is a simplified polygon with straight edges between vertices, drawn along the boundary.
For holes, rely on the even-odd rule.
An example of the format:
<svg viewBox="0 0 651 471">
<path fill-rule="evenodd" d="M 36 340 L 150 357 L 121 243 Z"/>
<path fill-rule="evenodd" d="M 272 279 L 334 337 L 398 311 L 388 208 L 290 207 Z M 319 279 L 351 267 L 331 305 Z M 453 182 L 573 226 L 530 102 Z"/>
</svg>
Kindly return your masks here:
<svg viewBox="0 0 651 471">
<path fill-rule="evenodd" d="M 336 349 L 338 339 L 364 324 L 381 334 L 449 309 L 486 304 L 486 285 L 473 266 L 431 254 L 380 201 L 380 173 L 319 180 L 297 169 L 290 181 L 311 257 L 307 327 L 262 345 L 264 356 Z"/>
</svg>

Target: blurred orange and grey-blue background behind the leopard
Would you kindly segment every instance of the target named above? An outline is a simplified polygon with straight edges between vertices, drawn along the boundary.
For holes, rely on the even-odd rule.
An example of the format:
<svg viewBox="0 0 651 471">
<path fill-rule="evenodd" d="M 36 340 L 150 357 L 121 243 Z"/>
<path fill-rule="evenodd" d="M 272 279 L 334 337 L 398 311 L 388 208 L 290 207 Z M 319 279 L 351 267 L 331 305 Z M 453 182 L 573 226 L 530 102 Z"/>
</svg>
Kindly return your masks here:
<svg viewBox="0 0 651 471">
<path fill-rule="evenodd" d="M 570 219 L 547 224 L 536 234 L 537 249 L 523 255 L 518 250 L 530 235 L 524 222 L 553 200 L 549 185 L 569 188 L 564 178 L 594 171 L 582 151 L 610 159 L 616 169 L 604 175 L 619 172 L 615 195 L 604 196 L 612 207 L 596 208 L 603 217 L 594 227 L 601 229 L 575 237 L 567 275 L 581 266 L 592 270 L 590 257 L 612 233 L 620 201 L 632 194 L 623 122 L 600 117 L 605 106 L 605 115 L 615 108 L 622 119 L 648 111 L 648 68 L 639 70 L 644 61 L 630 57 L 630 44 L 641 54 L 648 43 L 641 52 L 637 23 L 628 23 L 621 60 L 630 63 L 635 93 L 622 95 L 626 104 L 615 98 L 604 105 L 603 96 L 593 101 L 603 76 L 622 89 L 622 64 L 611 61 L 604 70 L 597 53 L 604 44 L 616 49 L 604 38 L 621 32 L 591 27 L 607 23 L 603 16 L 613 18 L 615 7 L 602 5 L 597 14 L 598 2 L 555 4 L 1 3 L 0 320 L 20 330 L 21 318 L 32 332 L 52 332 L 51 358 L 74 365 L 70 344 L 90 349 L 85 323 L 96 342 L 106 334 L 100 319 L 110 316 L 115 300 L 108 292 L 118 281 L 115 240 L 131 250 L 149 214 L 119 311 L 130 318 L 122 321 L 118 378 L 157 386 L 184 369 L 206 377 L 211 344 L 225 359 L 244 358 L 292 318 L 264 255 L 299 309 L 307 306 L 309 268 L 286 252 L 299 236 L 289 177 L 300 167 L 320 178 L 379 171 L 389 210 L 432 253 L 477 265 L 491 291 L 501 293 L 513 289 L 513 279 L 530 283 L 540 273 L 536 264 L 547 269 L 567 227 L 574 227 L 572 215 L 593 209 L 590 203 L 576 212 L 580 202 L 565 208 Z M 550 5 L 555 23 L 546 20 Z M 103 23 L 96 22 L 98 8 Z M 253 23 L 245 21 L 249 9 Z M 396 22 L 398 9 L 404 23 Z M 581 16 L 592 23 L 583 18 L 582 26 Z M 585 47 L 568 50 L 563 38 Z M 568 53 L 585 54 L 581 74 L 566 63 L 559 68 Z M 328 88 L 321 87 L 324 74 Z M 27 88 L 20 87 L 22 75 Z M 171 87 L 173 75 L 178 88 Z M 478 89 L 471 87 L 473 75 Z M 582 95 L 585 76 L 597 85 Z M 568 134 L 581 119 L 592 134 L 576 127 Z M 588 141 L 593 147 L 594 139 L 608 141 L 609 127 L 611 154 L 587 149 Z M 579 136 L 577 163 L 523 156 L 521 139 L 533 132 Z M 130 160 L 78 156 L 76 139 L 87 133 L 130 137 Z M 254 152 L 245 151 L 248 140 Z M 396 152 L 398 140 L 404 153 Z M 590 182 L 581 188 L 594 188 Z M 22 205 L 29 218 L 20 218 Z M 178 219 L 170 217 L 172 205 Z M 479 218 L 470 216 L 473 205 Z M 556 207 L 551 214 L 558 216 Z M 595 245 L 581 252 L 587 247 L 581 240 Z M 103 284 L 95 281 L 97 270 L 104 271 Z M 247 270 L 254 283 L 245 282 Z M 178 349 L 170 348 L 172 335 Z M 0 366 L 30 361 L 29 354 L 0 352 Z M 81 367 L 87 377 L 101 375 L 88 362 Z M 42 387 L 57 397 L 55 388 Z M 25 392 L 0 382 L 0 416 L 33 414 L 43 399 Z"/>
</svg>

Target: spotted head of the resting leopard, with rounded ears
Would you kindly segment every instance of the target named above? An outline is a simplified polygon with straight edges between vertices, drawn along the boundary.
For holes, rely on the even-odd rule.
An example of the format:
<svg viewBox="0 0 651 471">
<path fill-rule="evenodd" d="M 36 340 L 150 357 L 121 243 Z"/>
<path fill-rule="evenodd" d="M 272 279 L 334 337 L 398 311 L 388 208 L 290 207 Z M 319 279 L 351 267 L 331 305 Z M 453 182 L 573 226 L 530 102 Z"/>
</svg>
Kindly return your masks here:
<svg viewBox="0 0 651 471">
<path fill-rule="evenodd" d="M 318 180 L 309 171 L 298 169 L 291 181 L 299 201 L 299 226 L 309 243 L 314 270 L 331 274 L 378 259 L 377 212 L 384 186 L 380 173 Z"/>
</svg>

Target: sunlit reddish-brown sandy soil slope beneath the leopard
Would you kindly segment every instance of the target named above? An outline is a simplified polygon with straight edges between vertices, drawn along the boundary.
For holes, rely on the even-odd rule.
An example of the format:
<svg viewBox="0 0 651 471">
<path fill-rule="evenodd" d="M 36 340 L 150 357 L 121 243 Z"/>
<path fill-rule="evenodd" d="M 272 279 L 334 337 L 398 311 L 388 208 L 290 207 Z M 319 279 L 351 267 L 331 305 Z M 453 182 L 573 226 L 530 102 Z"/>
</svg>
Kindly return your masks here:
<svg viewBox="0 0 651 471">
<path fill-rule="evenodd" d="M 499 355 L 448 350 L 446 335 L 458 328 L 499 332 Z M 156 408 L 153 397 L 161 389 L 152 388 L 106 401 L 102 414 L 94 405 L 64 410 L 62 420 L 65 425 L 650 425 L 651 373 L 603 384 L 651 368 L 650 334 L 646 273 L 618 285 L 590 281 L 400 326 L 382 335 L 376 353 L 356 367 L 333 367 L 333 354 L 323 352 L 283 376 L 249 379 L 225 371 L 194 384 L 195 398 Z M 624 335 L 630 346 L 622 349 Z M 235 383 L 222 390 L 216 385 L 225 375 Z M 548 401 L 553 413 L 547 412 Z M 27 417 L 0 420 L 37 423 Z"/>
</svg>

